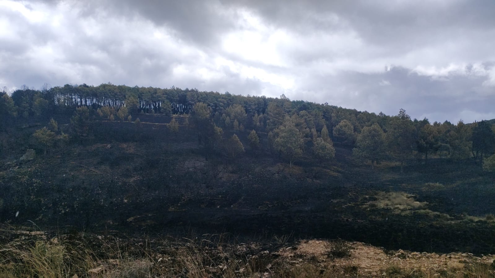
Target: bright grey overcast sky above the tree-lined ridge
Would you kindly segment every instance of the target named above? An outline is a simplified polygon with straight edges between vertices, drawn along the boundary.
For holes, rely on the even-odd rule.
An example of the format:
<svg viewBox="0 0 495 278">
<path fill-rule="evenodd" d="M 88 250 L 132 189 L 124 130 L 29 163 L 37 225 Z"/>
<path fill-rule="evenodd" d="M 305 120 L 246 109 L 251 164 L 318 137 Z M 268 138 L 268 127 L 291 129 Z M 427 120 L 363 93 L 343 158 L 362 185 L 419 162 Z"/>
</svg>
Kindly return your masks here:
<svg viewBox="0 0 495 278">
<path fill-rule="evenodd" d="M 495 118 L 494 0 L 0 0 L 0 87 L 197 88 Z"/>
</svg>

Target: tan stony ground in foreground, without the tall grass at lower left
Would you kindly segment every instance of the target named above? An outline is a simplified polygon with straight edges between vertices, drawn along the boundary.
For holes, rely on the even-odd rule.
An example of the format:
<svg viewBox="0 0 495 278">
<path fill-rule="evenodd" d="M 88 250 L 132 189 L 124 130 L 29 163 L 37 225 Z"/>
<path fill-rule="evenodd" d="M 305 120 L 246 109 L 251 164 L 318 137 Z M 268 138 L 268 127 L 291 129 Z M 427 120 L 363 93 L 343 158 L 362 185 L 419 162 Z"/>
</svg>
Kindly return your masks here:
<svg viewBox="0 0 495 278">
<path fill-rule="evenodd" d="M 300 271 L 313 271 L 304 277 L 495 277 L 495 255 L 471 253 L 419 253 L 385 250 L 362 242 L 297 240 L 274 238 L 266 242 L 229 243 L 226 235 L 203 235 L 195 239 L 124 238 L 115 235 L 50 235 L 39 231 L 1 227 L 5 246 L 31 246 L 44 241 L 47 246 L 65 242 L 85 243 L 76 250 L 92 250 L 100 259 L 74 277 L 119 277 L 122 271 L 148 273 L 142 277 L 297 277 Z M 8 237 L 8 238 L 7 238 Z M 71 238 L 71 239 L 70 239 Z M 12 242 L 15 242 L 12 245 Z M 72 242 L 72 243 L 70 243 Z M 341 242 L 349 247 L 349 256 L 329 255 L 329 243 Z M 2 247 L 3 246 L 3 247 Z M 67 245 L 68 246 L 68 245 Z M 9 248 L 10 248 L 9 247 Z M 77 249 L 81 248 L 81 249 Z M 111 252 L 110 252 L 111 251 Z M 125 255 L 124 255 L 125 254 Z M 8 258 L 4 258 L 7 259 Z M 480 271 L 480 266 L 483 270 Z M 1 263 L 0 263 L 1 267 Z M 184 273 L 172 269 L 187 269 Z M 144 270 L 144 271 L 143 271 Z M 286 273 L 280 275 L 281 272 Z M 332 272 L 332 276 L 325 273 Z M 154 273 L 154 274 L 153 274 Z M 168 274 L 173 276 L 168 276 Z M 288 274 L 287 274 L 288 273 Z M 318 274 L 319 273 L 319 274 Z M 480 274 L 483 273 L 483 274 Z M 228 275 L 227 275 L 228 274 Z M 337 274 L 337 276 L 335 276 Z M 71 274 L 72 275 L 72 274 Z M 77 276 L 79 275 L 79 276 Z M 126 276 L 127 277 L 127 276 Z M 141 276 L 140 276 L 141 277 Z"/>
</svg>

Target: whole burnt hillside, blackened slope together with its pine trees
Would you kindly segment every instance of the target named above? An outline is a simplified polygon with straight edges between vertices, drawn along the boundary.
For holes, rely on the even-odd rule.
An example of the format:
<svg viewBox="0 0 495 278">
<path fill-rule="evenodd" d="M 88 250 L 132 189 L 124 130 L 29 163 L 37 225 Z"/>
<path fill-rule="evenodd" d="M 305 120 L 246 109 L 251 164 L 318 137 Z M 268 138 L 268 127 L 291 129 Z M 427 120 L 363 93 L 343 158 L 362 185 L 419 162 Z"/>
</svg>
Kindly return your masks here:
<svg viewBox="0 0 495 278">
<path fill-rule="evenodd" d="M 495 121 L 102 84 L 0 96 L 0 221 L 495 252 Z"/>
</svg>

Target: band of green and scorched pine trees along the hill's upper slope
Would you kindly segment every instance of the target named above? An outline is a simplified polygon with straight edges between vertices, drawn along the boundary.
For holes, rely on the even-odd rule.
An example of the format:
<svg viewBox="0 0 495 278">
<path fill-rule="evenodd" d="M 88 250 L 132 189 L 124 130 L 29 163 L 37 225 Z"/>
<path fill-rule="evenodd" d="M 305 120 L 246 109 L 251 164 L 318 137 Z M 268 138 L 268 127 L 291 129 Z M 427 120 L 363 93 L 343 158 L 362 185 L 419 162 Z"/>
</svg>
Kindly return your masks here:
<svg viewBox="0 0 495 278">
<path fill-rule="evenodd" d="M 91 138 L 91 123 L 99 121 L 136 121 L 143 114 L 187 115 L 188 126 L 198 133 L 205 158 L 211 153 L 226 154 L 235 159 L 237 148 L 230 146 L 239 138 L 224 138 L 227 133 L 250 132 L 241 144 L 250 151 L 258 147 L 257 133 L 268 133 L 270 152 L 289 162 L 305 159 L 329 160 L 335 156 L 334 143 L 352 149 L 354 157 L 373 166 L 381 161 L 400 165 L 412 158 L 428 156 L 451 161 L 484 158 L 493 154 L 495 120 L 466 124 L 430 123 L 428 119 L 411 120 L 406 111 L 395 116 L 356 111 L 331 104 L 291 101 L 265 96 L 242 96 L 230 93 L 139 88 L 102 84 L 98 87 L 79 85 L 32 90 L 23 87 L 8 94 L 1 92 L 2 130 L 26 124 L 41 124 L 32 142 L 44 153 L 55 142 L 81 141 Z M 398 109 L 397 109 L 398 110 Z M 70 118 L 70 121 L 69 121 Z M 141 116 L 143 118 L 143 116 Z M 68 123 L 57 134 L 56 121 Z M 169 128 L 177 132 L 177 120 Z M 51 130 L 51 132 L 50 132 Z M 215 136 L 216 135 L 216 136 Z M 237 138 L 237 139 L 236 139 Z M 20 151 L 8 136 L 2 135 L 3 158 Z M 220 147 L 220 142 L 228 144 Z M 16 139 L 17 144 L 20 142 Z M 18 146 L 18 145 L 17 145 Z M 228 147 L 227 147 L 228 146 Z M 240 148 L 239 145 L 238 148 Z M 491 158 L 486 162 L 491 168 Z"/>
</svg>

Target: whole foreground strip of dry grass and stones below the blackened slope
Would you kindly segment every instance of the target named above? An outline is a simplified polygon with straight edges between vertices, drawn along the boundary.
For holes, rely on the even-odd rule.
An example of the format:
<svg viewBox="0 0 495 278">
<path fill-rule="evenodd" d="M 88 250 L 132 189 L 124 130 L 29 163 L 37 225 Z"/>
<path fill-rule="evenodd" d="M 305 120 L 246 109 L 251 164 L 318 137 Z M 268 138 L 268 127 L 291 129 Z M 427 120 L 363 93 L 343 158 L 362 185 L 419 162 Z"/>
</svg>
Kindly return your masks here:
<svg viewBox="0 0 495 278">
<path fill-rule="evenodd" d="M 340 239 L 273 236 L 240 242 L 228 234 L 125 238 L 1 233 L 1 278 L 495 277 L 492 255 L 384 250 Z"/>
</svg>

